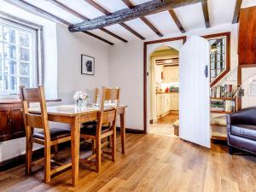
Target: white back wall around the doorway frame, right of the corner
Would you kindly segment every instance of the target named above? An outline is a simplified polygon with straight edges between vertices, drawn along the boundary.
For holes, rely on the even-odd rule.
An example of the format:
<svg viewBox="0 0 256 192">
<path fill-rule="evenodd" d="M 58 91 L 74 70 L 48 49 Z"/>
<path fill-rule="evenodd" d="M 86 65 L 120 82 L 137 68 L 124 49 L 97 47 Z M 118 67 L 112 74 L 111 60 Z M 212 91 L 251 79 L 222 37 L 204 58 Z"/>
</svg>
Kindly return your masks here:
<svg viewBox="0 0 256 192">
<path fill-rule="evenodd" d="M 231 32 L 230 76 L 236 78 L 237 32 L 238 25 L 224 24 L 189 31 L 186 34 L 174 34 L 164 38 L 207 35 L 218 32 Z M 147 39 L 149 41 L 149 39 Z M 156 40 L 156 39 L 150 39 Z M 224 79 L 225 80 L 225 79 Z M 224 83 L 224 82 L 223 82 Z M 232 82 L 234 83 L 234 82 Z M 109 51 L 109 84 L 121 87 L 121 103 L 127 108 L 126 124 L 129 128 L 143 130 L 143 42 L 116 44 Z M 149 98 L 148 98 L 149 99 Z"/>
</svg>

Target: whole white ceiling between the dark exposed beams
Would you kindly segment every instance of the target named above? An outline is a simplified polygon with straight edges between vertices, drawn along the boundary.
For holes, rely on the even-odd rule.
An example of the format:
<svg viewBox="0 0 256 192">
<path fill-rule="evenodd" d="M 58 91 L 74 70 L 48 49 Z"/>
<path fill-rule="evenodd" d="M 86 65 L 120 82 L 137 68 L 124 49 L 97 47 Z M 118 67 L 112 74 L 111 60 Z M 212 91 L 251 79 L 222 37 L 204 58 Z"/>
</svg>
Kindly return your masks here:
<svg viewBox="0 0 256 192">
<path fill-rule="evenodd" d="M 62 20 L 67 20 L 71 24 L 76 24 L 83 21 L 76 15 L 68 12 L 65 9 L 61 9 L 60 6 L 55 5 L 48 0 L 25 0 L 26 3 L 30 3 L 39 9 L 43 9 L 48 13 L 55 15 Z M 149 0 L 131 0 L 131 3 L 137 5 L 140 3 L 146 3 Z M 244 0 L 245 2 L 252 2 L 255 0 Z M 84 15 L 88 19 L 94 19 L 98 16 L 104 15 L 101 11 L 97 10 L 95 7 L 90 5 L 84 0 L 57 0 L 57 2 L 62 3 L 69 9 Z M 102 8 L 107 9 L 108 12 L 114 12 L 120 9 L 127 9 L 127 5 L 123 3 L 122 0 L 94 0 Z M 236 0 L 208 0 L 207 1 L 209 20 L 211 26 L 217 26 L 224 23 L 232 23 L 234 10 L 236 7 Z M 206 27 L 203 9 L 201 3 L 195 3 L 188 6 L 180 7 L 174 9 L 177 19 L 182 24 L 186 32 Z M 177 27 L 175 21 L 172 19 L 172 16 L 168 11 L 164 11 L 154 15 L 145 16 L 151 24 L 158 29 L 160 33 L 165 37 L 167 34 L 177 34 L 182 32 Z M 159 36 L 143 22 L 141 19 L 129 20 L 124 22 L 126 26 L 131 27 L 134 31 L 139 33 L 143 38 L 159 38 Z M 127 41 L 140 40 L 136 35 L 129 32 L 125 27 L 115 24 L 113 26 L 104 27 L 110 32 L 113 32 L 115 35 L 118 35 L 120 38 L 124 38 Z M 106 32 L 103 32 L 100 29 L 92 30 L 91 33 L 108 40 L 113 44 L 123 43 L 118 38 L 114 38 L 112 35 L 109 35 Z"/>
</svg>

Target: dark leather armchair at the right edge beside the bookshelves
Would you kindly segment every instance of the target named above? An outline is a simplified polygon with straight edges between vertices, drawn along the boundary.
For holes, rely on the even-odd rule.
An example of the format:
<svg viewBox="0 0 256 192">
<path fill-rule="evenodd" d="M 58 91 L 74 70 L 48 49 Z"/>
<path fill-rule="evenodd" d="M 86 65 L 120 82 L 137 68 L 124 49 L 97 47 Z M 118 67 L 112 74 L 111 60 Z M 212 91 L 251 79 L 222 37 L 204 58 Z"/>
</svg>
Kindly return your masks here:
<svg viewBox="0 0 256 192">
<path fill-rule="evenodd" d="M 229 114 L 227 131 L 230 154 L 234 148 L 256 154 L 256 107 Z"/>
</svg>

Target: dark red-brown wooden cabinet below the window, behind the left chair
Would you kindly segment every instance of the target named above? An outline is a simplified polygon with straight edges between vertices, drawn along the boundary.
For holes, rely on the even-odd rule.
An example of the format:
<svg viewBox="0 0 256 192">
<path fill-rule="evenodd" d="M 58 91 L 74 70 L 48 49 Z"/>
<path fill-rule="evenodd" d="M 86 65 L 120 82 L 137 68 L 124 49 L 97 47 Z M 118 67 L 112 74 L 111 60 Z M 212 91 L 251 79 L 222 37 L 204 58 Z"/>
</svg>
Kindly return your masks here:
<svg viewBox="0 0 256 192">
<path fill-rule="evenodd" d="M 25 137 L 20 103 L 0 103 L 0 142 Z"/>
</svg>

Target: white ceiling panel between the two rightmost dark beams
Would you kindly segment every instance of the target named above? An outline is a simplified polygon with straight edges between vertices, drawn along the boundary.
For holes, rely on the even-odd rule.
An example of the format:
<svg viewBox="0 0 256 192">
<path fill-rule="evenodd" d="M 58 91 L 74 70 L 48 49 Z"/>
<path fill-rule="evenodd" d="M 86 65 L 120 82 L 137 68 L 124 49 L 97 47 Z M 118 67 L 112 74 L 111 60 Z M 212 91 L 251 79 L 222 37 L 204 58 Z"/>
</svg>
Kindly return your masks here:
<svg viewBox="0 0 256 192">
<path fill-rule="evenodd" d="M 211 26 L 231 23 L 236 7 L 236 0 L 208 0 Z"/>
</svg>

